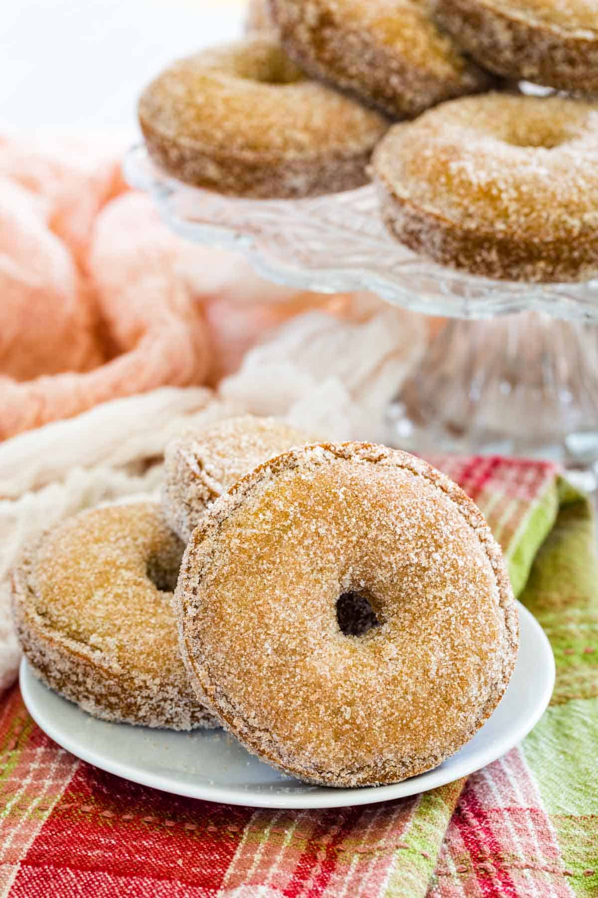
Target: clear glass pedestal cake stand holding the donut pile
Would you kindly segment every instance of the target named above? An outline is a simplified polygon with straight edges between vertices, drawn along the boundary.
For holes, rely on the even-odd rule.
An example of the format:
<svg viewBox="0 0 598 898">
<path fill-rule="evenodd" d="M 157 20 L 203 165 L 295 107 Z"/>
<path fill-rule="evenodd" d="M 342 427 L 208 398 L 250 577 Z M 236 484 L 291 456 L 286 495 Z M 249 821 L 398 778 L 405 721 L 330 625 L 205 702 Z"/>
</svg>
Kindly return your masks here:
<svg viewBox="0 0 598 898">
<path fill-rule="evenodd" d="M 523 284 L 440 267 L 386 232 L 372 185 L 300 200 L 224 197 L 169 178 L 143 145 L 125 173 L 174 231 L 245 253 L 268 279 L 366 290 L 451 319 L 389 407 L 389 443 L 598 470 L 598 279 Z"/>
</svg>

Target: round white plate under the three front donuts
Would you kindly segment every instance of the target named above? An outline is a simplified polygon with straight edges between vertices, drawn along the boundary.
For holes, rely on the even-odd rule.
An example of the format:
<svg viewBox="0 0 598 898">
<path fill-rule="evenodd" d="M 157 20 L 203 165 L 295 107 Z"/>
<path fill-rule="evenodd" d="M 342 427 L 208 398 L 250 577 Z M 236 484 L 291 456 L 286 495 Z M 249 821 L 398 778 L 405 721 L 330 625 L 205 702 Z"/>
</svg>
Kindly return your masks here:
<svg viewBox="0 0 598 898">
<path fill-rule="evenodd" d="M 172 733 L 96 720 L 40 683 L 25 660 L 21 691 L 31 717 L 55 742 L 101 770 L 144 786 L 253 807 L 368 805 L 443 786 L 480 770 L 529 733 L 548 705 L 555 669 L 548 639 L 521 604 L 519 621 L 521 647 L 515 673 L 492 717 L 448 761 L 394 786 L 309 786 L 258 761 L 223 730 Z"/>
</svg>

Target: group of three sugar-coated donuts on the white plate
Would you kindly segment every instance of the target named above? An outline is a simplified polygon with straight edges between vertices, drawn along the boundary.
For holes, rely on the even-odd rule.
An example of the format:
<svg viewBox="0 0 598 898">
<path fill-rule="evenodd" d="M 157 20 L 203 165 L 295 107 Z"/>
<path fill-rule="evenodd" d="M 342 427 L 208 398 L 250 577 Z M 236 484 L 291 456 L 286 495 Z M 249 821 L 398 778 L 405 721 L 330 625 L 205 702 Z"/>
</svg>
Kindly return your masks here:
<svg viewBox="0 0 598 898">
<path fill-rule="evenodd" d="M 323 785 L 455 753 L 516 661 L 498 544 L 426 462 L 306 440 L 260 418 L 186 434 L 161 503 L 91 509 L 31 545 L 13 609 L 34 674 L 105 720 L 224 726 Z"/>
</svg>

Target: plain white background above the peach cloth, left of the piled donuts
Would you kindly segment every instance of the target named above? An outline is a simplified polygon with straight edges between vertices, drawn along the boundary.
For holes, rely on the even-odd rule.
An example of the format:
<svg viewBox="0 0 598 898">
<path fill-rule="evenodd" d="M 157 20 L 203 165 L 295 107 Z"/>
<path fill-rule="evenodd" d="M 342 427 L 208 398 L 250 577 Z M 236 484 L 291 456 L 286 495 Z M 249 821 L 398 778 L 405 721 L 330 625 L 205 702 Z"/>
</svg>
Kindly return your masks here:
<svg viewBox="0 0 598 898">
<path fill-rule="evenodd" d="M 0 127 L 135 128 L 172 59 L 240 31 L 242 0 L 14 0 L 0 14 Z"/>
</svg>

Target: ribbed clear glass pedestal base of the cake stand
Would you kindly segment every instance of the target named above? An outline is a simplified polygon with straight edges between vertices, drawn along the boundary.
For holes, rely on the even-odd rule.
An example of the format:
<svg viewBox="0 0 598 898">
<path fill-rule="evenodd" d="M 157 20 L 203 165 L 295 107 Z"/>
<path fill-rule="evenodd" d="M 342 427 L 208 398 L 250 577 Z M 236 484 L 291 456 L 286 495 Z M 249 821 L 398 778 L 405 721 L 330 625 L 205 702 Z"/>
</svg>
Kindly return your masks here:
<svg viewBox="0 0 598 898">
<path fill-rule="evenodd" d="M 388 409 L 389 441 L 598 471 L 597 338 L 538 312 L 450 321 Z"/>
</svg>

